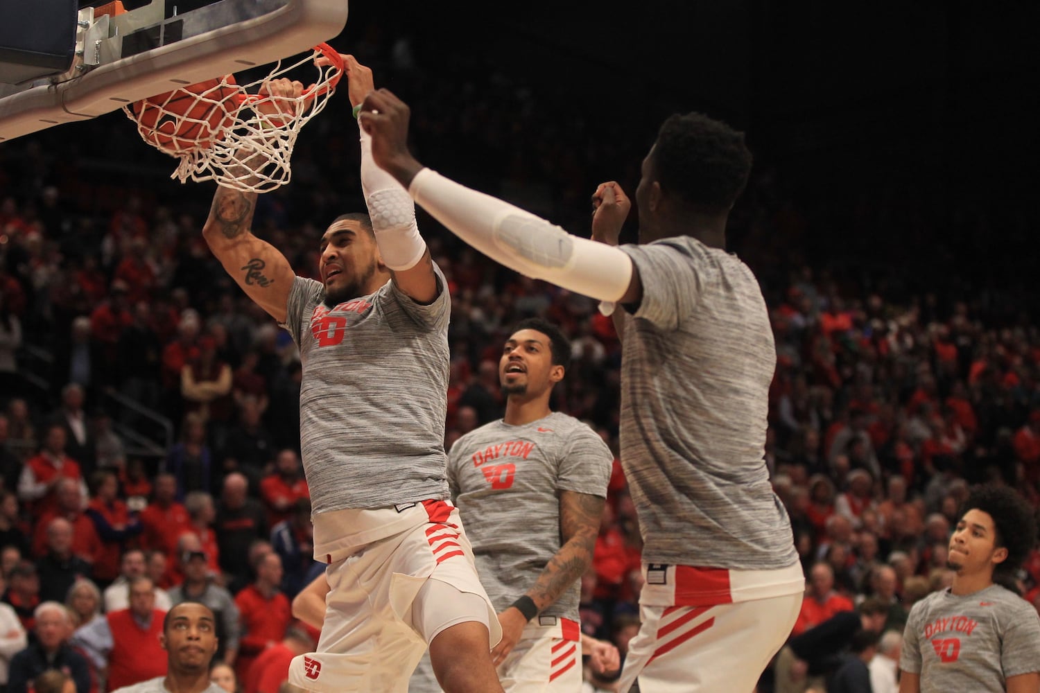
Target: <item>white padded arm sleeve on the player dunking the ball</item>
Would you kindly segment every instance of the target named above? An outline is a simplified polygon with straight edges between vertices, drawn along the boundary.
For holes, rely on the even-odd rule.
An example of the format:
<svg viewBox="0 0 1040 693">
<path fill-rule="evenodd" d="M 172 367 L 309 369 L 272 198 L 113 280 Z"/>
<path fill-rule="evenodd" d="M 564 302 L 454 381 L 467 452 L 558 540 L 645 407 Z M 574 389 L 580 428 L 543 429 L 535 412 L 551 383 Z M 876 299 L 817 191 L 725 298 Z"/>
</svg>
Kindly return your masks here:
<svg viewBox="0 0 1040 693">
<path fill-rule="evenodd" d="M 372 161 L 372 138 L 363 128 L 359 130 L 361 189 L 383 264 L 395 271 L 411 269 L 426 251 L 426 243 L 415 222 L 415 203 L 400 183 L 375 165 Z"/>
</svg>

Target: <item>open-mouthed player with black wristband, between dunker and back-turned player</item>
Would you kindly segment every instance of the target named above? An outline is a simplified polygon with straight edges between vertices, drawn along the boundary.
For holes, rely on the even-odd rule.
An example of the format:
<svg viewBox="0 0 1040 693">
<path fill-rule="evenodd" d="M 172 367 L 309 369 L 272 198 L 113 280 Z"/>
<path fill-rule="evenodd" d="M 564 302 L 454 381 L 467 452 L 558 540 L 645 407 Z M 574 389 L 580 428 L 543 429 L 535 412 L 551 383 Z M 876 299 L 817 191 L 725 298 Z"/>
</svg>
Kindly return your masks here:
<svg viewBox="0 0 1040 693">
<path fill-rule="evenodd" d="M 554 325 L 520 322 L 498 362 L 505 417 L 448 454 L 451 496 L 498 610 L 502 639 L 491 655 L 509 693 L 581 687 L 579 581 L 592 564 L 614 455 L 587 424 L 549 408 L 570 353 Z M 439 691 L 423 673 L 409 690 Z"/>
</svg>

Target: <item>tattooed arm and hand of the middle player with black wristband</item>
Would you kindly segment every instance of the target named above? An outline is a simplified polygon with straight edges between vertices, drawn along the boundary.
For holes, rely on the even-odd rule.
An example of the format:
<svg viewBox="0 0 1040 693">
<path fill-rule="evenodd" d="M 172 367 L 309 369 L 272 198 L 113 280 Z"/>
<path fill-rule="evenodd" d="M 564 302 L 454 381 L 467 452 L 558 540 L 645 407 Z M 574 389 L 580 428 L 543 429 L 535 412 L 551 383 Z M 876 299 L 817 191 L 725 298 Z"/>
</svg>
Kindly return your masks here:
<svg viewBox="0 0 1040 693">
<path fill-rule="evenodd" d="M 563 545 L 546 564 L 535 585 L 521 597 L 534 603 L 538 612 L 547 609 L 581 579 L 592 565 L 592 555 L 596 549 L 600 516 L 606 501 L 591 494 L 565 490 L 560 495 L 560 532 Z M 518 599 L 520 602 L 520 599 Z M 522 607 L 511 606 L 498 614 L 502 627 L 502 639 L 491 650 L 491 658 L 497 667 L 520 640 L 524 625 L 534 618 L 525 614 Z"/>
</svg>

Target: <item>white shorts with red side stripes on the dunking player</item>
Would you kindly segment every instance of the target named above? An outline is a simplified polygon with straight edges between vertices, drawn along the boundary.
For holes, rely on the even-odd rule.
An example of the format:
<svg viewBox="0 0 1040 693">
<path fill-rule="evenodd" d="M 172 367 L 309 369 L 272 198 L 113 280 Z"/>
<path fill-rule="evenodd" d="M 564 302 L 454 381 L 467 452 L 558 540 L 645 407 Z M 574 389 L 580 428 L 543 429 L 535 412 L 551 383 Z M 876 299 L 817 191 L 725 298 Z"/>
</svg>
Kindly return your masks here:
<svg viewBox="0 0 1040 693">
<path fill-rule="evenodd" d="M 412 614 L 430 579 L 479 596 L 487 613 L 472 619 L 489 619 L 489 649 L 501 639 L 459 510 L 446 501 L 427 501 L 402 512 L 415 517 L 411 529 L 329 564 L 330 591 L 317 651 L 292 660 L 289 683 L 328 693 L 405 693 L 426 649 Z"/>
</svg>

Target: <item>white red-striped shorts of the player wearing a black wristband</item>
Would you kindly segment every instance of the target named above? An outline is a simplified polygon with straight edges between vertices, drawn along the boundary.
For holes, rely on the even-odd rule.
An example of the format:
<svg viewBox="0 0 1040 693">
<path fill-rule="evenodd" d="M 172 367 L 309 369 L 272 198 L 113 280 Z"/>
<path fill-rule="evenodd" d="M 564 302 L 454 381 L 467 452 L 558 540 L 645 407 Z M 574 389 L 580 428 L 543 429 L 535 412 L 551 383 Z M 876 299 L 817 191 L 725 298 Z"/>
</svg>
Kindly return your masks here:
<svg viewBox="0 0 1040 693">
<path fill-rule="evenodd" d="M 575 693 L 581 688 L 581 629 L 577 621 L 539 616 L 527 623 L 498 681 L 505 693 Z M 430 657 L 412 674 L 409 693 L 441 693 Z"/>
</svg>

